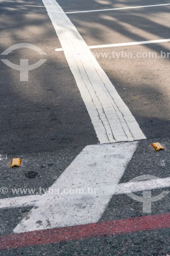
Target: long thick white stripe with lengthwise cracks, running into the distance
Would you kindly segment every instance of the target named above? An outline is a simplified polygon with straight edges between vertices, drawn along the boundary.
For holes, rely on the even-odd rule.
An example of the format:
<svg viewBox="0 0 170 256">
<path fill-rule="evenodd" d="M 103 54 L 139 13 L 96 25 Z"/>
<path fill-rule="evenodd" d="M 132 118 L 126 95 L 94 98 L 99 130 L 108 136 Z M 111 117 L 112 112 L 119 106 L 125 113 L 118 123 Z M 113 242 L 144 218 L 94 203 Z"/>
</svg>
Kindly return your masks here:
<svg viewBox="0 0 170 256">
<path fill-rule="evenodd" d="M 145 139 L 76 27 L 55 0 L 42 0 L 60 40 L 100 143 Z"/>
</svg>

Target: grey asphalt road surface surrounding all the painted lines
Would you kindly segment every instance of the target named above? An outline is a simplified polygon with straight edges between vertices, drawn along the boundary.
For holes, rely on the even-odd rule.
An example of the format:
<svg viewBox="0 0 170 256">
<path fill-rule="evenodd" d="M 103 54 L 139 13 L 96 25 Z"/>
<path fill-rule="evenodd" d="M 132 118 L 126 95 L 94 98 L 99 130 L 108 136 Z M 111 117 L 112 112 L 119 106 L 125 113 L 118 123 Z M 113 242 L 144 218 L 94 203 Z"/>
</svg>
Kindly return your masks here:
<svg viewBox="0 0 170 256">
<path fill-rule="evenodd" d="M 68 0 L 58 2 L 64 11 L 108 9 L 126 6 L 166 4 L 168 1 L 91 1 Z M 19 81 L 19 72 L 2 61 L 0 76 L 0 154 L 1 187 L 37 189 L 48 188 L 64 169 L 90 144 L 98 143 L 90 117 L 77 88 L 74 77 L 60 48 L 54 27 L 40 0 L 8 1 L 0 3 L 0 53 L 20 42 L 40 47 L 47 55 L 44 65 L 29 72 L 29 82 Z M 170 38 L 169 7 L 68 14 L 88 45 L 114 44 L 129 41 Z M 112 58 L 111 54 L 132 52 L 170 52 L 170 43 L 93 49 L 107 52 L 99 57 L 101 67 L 109 76 L 117 92 L 128 105 L 147 137 L 139 141 L 120 182 L 144 175 L 169 177 L 169 79 L 168 58 Z M 110 58 L 111 57 L 111 58 Z M 2 58 L 2 56 L 1 56 Z M 19 64 L 29 58 L 40 59 L 35 51 L 19 49 L 3 56 Z M 44 56 L 43 56 L 44 58 Z M 159 141 L 164 151 L 155 152 L 151 146 Z M 21 157 L 21 168 L 10 169 L 10 159 Z M 164 190 L 152 191 L 158 195 Z M 142 193 L 136 193 L 142 196 Z M 152 204 L 152 215 L 170 211 L 170 193 Z M 12 233 L 31 207 L 0 210 L 1 235 Z M 113 196 L 100 221 L 145 216 L 142 204 L 127 195 Z M 150 214 L 149 214 L 150 215 Z M 118 236 L 62 242 L 43 246 L 4 250 L 1 255 L 166 255 L 170 254 L 169 228 L 142 231 Z"/>
</svg>

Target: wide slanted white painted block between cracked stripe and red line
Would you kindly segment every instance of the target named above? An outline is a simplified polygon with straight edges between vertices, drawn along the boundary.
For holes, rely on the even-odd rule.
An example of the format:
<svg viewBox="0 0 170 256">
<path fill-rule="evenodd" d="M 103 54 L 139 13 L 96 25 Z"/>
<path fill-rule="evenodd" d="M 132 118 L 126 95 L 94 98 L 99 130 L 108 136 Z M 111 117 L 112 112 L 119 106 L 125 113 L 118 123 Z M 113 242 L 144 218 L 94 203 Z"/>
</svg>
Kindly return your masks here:
<svg viewBox="0 0 170 256">
<path fill-rule="evenodd" d="M 136 141 L 86 146 L 14 232 L 98 222 L 136 147 Z M 72 193 L 76 189 L 81 193 Z"/>
</svg>

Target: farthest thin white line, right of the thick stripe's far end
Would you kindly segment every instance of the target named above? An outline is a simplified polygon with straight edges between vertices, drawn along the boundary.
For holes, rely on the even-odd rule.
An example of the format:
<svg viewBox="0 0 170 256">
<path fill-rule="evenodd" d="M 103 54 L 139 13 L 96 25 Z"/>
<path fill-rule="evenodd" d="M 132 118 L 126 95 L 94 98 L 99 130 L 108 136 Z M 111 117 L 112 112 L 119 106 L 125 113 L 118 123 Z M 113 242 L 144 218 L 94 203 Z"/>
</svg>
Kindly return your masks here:
<svg viewBox="0 0 170 256">
<path fill-rule="evenodd" d="M 116 10 L 136 9 L 136 8 L 145 8 L 145 7 L 159 7 L 159 6 L 166 6 L 166 5 L 170 5 L 170 4 L 131 6 L 131 7 L 121 7 L 121 8 L 112 8 L 112 9 L 102 9 L 102 10 L 90 10 L 90 11 L 76 11 L 76 12 L 65 12 L 65 13 L 70 14 L 70 13 L 83 13 L 83 12 L 116 11 Z"/>
</svg>

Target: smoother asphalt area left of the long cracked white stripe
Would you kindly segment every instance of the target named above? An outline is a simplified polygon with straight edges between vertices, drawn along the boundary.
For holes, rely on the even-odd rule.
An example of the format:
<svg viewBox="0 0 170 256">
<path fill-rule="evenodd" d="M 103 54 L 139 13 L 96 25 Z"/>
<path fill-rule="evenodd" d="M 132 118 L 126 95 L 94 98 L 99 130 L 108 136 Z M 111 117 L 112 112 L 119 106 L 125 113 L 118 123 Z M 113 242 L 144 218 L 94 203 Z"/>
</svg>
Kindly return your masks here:
<svg viewBox="0 0 170 256">
<path fill-rule="evenodd" d="M 37 7 L 38 6 L 38 7 Z M 3 58 L 19 65 L 46 58 L 44 65 L 29 72 L 29 81 L 19 81 L 19 71 L 1 61 L 1 151 L 2 154 L 55 152 L 62 148 L 96 144 L 94 129 L 54 27 L 41 1 L 1 3 L 1 47 L 29 42 L 47 55 L 19 49 Z M 91 142 L 90 142 L 91 141 Z M 73 154 L 73 153 L 72 153 Z"/>
</svg>

